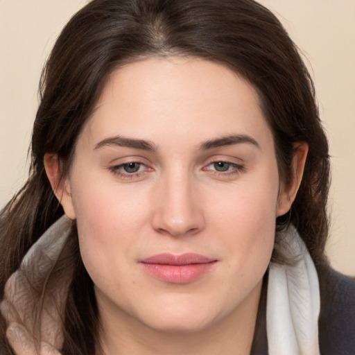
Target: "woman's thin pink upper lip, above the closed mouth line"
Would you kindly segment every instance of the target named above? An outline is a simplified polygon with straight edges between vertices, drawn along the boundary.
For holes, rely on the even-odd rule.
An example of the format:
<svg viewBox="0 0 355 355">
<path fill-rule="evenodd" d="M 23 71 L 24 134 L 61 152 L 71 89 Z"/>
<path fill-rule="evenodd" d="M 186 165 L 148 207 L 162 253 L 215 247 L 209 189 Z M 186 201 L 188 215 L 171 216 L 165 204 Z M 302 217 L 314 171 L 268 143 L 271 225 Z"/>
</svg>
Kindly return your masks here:
<svg viewBox="0 0 355 355">
<path fill-rule="evenodd" d="M 210 259 L 192 252 L 180 255 L 162 253 L 140 260 L 141 263 L 157 263 L 162 265 L 190 265 L 193 263 L 211 263 L 214 261 L 216 261 L 216 259 Z"/>
</svg>

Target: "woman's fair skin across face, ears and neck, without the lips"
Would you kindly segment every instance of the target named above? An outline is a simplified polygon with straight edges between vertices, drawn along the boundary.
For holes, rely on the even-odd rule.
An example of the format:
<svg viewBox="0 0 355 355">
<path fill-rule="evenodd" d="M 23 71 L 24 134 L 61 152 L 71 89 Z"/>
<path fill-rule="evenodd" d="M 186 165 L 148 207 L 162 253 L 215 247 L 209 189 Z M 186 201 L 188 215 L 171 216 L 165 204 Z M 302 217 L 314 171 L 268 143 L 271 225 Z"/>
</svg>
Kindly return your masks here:
<svg viewBox="0 0 355 355">
<path fill-rule="evenodd" d="M 244 138 L 216 144 L 227 136 Z M 153 149 L 121 146 L 122 137 Z M 258 96 L 223 65 L 150 58 L 114 71 L 69 175 L 59 183 L 57 157 L 44 158 L 65 214 L 77 220 L 105 354 L 249 354 L 275 220 L 291 207 L 306 153 L 298 144 L 284 187 Z M 125 171 L 135 162 L 137 173 Z M 162 252 L 217 262 L 173 284 L 139 263 Z"/>
</svg>

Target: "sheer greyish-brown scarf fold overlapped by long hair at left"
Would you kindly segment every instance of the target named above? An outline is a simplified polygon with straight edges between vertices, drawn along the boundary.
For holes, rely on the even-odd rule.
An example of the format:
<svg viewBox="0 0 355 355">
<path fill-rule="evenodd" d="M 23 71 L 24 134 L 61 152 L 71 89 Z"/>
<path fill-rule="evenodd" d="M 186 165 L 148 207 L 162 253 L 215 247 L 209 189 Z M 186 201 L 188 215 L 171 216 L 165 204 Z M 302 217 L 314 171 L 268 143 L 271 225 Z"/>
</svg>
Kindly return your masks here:
<svg viewBox="0 0 355 355">
<path fill-rule="evenodd" d="M 71 272 L 58 272 L 55 265 L 71 226 L 66 216 L 53 223 L 6 282 L 0 309 L 8 325 L 8 342 L 17 355 L 60 354 Z"/>
</svg>

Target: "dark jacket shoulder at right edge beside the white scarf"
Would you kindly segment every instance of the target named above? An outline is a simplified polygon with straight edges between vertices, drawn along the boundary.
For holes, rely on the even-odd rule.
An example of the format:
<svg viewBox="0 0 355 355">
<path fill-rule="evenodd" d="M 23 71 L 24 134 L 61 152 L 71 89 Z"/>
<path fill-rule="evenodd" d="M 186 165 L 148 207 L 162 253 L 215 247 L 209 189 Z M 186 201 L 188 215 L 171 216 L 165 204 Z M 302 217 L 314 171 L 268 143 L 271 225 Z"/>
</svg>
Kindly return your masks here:
<svg viewBox="0 0 355 355">
<path fill-rule="evenodd" d="M 318 266 L 322 355 L 355 354 L 355 279 Z"/>
</svg>

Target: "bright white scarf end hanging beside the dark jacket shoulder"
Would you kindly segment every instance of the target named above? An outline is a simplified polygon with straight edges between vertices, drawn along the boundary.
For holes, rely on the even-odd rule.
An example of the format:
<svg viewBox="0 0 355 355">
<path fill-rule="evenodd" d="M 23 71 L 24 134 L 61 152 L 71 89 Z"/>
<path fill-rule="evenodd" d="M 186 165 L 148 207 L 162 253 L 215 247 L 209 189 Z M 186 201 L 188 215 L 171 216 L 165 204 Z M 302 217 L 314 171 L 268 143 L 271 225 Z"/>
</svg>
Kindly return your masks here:
<svg viewBox="0 0 355 355">
<path fill-rule="evenodd" d="M 282 233 L 292 265 L 270 263 L 266 331 L 270 355 L 318 355 L 320 291 L 317 271 L 295 227 Z"/>
</svg>

